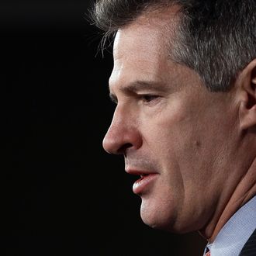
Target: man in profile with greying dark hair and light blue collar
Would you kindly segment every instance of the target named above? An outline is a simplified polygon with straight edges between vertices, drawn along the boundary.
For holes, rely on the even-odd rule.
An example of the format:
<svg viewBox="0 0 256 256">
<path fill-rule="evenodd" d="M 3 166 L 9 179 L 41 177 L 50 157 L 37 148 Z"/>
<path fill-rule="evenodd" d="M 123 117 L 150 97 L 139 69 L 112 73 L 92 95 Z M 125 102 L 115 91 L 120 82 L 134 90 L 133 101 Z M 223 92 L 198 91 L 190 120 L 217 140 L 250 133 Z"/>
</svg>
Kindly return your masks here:
<svg viewBox="0 0 256 256">
<path fill-rule="evenodd" d="M 256 2 L 102 0 L 116 102 L 103 141 L 138 175 L 144 223 L 256 255 Z M 103 40 L 104 43 L 104 40 Z"/>
</svg>

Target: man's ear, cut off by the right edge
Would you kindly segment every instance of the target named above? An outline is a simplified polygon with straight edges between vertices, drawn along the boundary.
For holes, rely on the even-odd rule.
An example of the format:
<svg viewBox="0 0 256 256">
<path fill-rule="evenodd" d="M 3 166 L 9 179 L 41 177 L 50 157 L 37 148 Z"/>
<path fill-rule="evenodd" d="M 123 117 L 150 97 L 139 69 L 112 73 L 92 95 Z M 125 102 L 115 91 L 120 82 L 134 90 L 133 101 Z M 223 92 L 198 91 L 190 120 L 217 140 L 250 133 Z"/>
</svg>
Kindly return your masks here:
<svg viewBox="0 0 256 256">
<path fill-rule="evenodd" d="M 248 130 L 256 127 L 256 59 L 250 62 L 237 78 L 240 88 L 240 128 Z"/>
</svg>

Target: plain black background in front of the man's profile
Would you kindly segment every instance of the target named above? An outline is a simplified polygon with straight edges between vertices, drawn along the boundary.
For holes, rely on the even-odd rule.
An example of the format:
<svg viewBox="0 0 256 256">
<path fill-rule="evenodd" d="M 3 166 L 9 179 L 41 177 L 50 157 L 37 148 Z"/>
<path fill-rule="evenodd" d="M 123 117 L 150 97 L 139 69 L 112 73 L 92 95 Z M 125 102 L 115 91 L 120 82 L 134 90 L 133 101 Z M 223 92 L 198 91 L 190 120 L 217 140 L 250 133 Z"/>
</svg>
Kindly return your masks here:
<svg viewBox="0 0 256 256">
<path fill-rule="evenodd" d="M 142 223 L 123 158 L 102 149 L 112 55 L 90 4 L 0 4 L 1 255 L 201 255 L 198 234 Z"/>
</svg>

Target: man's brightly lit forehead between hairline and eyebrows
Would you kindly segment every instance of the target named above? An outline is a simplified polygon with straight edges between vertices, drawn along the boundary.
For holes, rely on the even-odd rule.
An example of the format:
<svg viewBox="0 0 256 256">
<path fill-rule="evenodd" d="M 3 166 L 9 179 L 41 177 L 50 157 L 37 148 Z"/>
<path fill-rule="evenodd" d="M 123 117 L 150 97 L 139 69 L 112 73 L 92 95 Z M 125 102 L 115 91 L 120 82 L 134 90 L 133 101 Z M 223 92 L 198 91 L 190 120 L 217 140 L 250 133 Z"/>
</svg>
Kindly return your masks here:
<svg viewBox="0 0 256 256">
<path fill-rule="evenodd" d="M 170 42 L 174 36 L 176 12 L 165 10 L 140 16 L 119 29 L 114 42 L 114 68 L 109 85 L 116 81 L 159 80 L 167 74 Z"/>
</svg>

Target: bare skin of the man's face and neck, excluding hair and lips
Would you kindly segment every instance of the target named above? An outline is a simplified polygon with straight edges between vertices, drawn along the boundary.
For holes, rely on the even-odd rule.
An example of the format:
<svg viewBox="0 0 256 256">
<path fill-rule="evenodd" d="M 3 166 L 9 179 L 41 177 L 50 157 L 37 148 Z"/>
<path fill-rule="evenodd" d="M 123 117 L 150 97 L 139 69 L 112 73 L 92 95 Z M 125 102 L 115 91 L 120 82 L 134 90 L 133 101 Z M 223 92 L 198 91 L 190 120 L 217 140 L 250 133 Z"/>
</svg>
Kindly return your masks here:
<svg viewBox="0 0 256 256">
<path fill-rule="evenodd" d="M 175 35 L 167 24 L 175 24 L 175 12 L 146 14 L 118 30 L 109 78 L 117 105 L 103 147 L 123 154 L 128 173 L 156 174 L 139 193 L 144 223 L 200 230 L 210 241 L 256 193 L 255 155 L 244 153 L 255 152 L 254 134 L 244 136 L 251 112 L 244 78 L 213 93 L 199 74 L 171 61 L 167 42 Z"/>
</svg>

